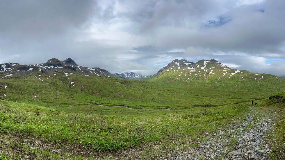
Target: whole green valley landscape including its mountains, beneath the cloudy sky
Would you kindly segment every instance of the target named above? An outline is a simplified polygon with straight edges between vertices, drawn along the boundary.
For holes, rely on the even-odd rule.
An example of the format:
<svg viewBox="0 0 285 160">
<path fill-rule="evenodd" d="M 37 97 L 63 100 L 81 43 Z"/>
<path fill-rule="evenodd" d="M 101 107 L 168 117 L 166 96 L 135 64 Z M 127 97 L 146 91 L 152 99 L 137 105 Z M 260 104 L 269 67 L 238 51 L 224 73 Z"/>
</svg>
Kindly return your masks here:
<svg viewBox="0 0 285 160">
<path fill-rule="evenodd" d="M 231 130 L 248 116 L 246 130 L 270 118 L 267 129 L 276 135 L 262 139 L 269 156 L 261 157 L 284 157 L 278 128 L 284 127 L 285 79 L 275 75 L 213 59 L 173 60 L 152 77 L 133 80 L 53 58 L 0 64 L 0 76 L 0 159 L 232 159 L 241 143 L 230 144 Z M 228 130 L 219 152 L 210 143 L 214 153 L 201 147 L 209 134 Z"/>
</svg>

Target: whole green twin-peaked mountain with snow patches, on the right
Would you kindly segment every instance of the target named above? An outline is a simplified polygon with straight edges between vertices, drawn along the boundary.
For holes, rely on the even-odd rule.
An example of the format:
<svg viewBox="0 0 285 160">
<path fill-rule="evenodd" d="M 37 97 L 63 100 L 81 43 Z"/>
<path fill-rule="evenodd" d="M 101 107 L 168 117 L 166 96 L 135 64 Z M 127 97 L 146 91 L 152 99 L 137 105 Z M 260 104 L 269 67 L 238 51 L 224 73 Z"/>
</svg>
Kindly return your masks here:
<svg viewBox="0 0 285 160">
<path fill-rule="evenodd" d="M 236 87 L 253 86 L 264 88 L 280 88 L 284 78 L 270 74 L 240 71 L 218 62 L 217 60 L 200 60 L 196 63 L 187 60 L 173 60 L 154 74 L 149 81 L 169 84 L 187 84 L 192 86 Z"/>
</svg>

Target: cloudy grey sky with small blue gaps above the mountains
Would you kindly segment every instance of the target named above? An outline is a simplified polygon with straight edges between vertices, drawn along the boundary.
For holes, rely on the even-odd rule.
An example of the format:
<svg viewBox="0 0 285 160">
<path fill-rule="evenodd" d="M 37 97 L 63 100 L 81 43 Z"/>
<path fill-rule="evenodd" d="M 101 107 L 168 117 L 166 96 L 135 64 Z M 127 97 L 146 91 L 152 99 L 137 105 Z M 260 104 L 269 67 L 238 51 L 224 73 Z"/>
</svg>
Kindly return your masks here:
<svg viewBox="0 0 285 160">
<path fill-rule="evenodd" d="M 0 63 L 72 58 L 152 75 L 174 59 L 216 59 L 285 75 L 284 0 L 1 0 Z"/>
</svg>

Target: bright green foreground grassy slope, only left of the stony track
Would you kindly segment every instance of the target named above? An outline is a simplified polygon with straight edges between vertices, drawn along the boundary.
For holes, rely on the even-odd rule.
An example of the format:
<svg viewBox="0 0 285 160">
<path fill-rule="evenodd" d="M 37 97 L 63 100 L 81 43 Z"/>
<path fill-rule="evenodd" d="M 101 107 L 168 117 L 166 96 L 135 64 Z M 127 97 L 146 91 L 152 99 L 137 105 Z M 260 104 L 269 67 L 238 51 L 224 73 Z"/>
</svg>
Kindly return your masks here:
<svg viewBox="0 0 285 160">
<path fill-rule="evenodd" d="M 76 146 L 81 150 L 94 151 L 117 150 L 140 143 L 168 141 L 184 135 L 199 137 L 198 133 L 218 129 L 220 124 L 231 121 L 234 116 L 241 116 L 247 111 L 245 104 L 163 112 L 135 110 L 133 116 L 119 113 L 114 119 L 109 115 L 100 116 L 100 112 L 95 110 L 90 114 L 71 114 L 10 101 L 0 101 L 0 107 L 2 137 L 14 135 L 20 139 L 40 139 L 44 145 L 56 146 L 54 150 L 60 150 L 63 146 Z M 119 110 L 128 112 L 128 109 L 124 108 Z M 106 121 L 104 117 L 107 118 Z M 33 147 L 37 142 L 30 143 Z M 15 152 L 13 148 L 19 148 L 16 145 L 20 144 L 12 144 L 0 152 Z M 21 151 L 22 149 L 20 148 Z M 64 156 L 51 155 L 56 154 L 51 148 L 45 149 L 50 152 L 48 155 L 34 150 L 38 149 L 29 149 L 25 154 L 39 159 L 45 156 Z"/>
</svg>

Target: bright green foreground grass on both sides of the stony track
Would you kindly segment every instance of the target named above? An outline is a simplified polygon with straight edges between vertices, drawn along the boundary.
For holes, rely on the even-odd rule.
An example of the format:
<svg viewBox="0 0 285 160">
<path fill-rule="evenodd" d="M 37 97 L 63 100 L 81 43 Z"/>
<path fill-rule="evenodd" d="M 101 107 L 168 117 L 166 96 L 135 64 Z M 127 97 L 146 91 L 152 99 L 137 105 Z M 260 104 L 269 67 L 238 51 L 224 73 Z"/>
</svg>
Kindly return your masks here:
<svg viewBox="0 0 285 160">
<path fill-rule="evenodd" d="M 272 136 L 268 141 L 273 147 L 271 159 L 284 158 L 285 114 L 282 114 L 284 103 L 280 100 L 282 102 L 282 98 L 259 101 L 255 108 L 265 114 L 279 112 L 276 137 Z M 85 159 L 86 156 L 97 157 L 100 152 L 94 152 L 96 150 L 117 150 L 149 142 L 161 142 L 160 150 L 171 151 L 179 147 L 180 143 L 173 143 L 177 139 L 203 139 L 205 132 L 211 134 L 221 126 L 227 127 L 227 123 L 238 117 L 242 120 L 248 113 L 249 104 L 176 111 L 131 110 L 131 114 L 126 108 L 112 108 L 105 110 L 105 113 L 110 111 L 112 114 L 102 116 L 97 110 L 99 106 L 88 108 L 89 114 L 72 114 L 37 105 L 0 101 L 0 159 L 27 156 L 35 159 Z M 153 155 L 142 152 L 139 158 L 155 157 L 160 152 L 153 147 L 147 150 Z"/>
</svg>

